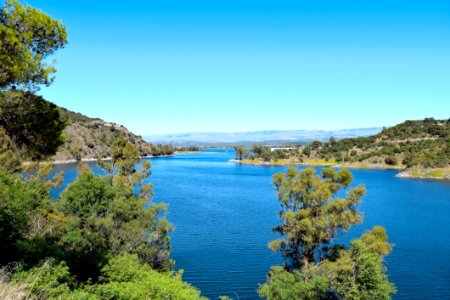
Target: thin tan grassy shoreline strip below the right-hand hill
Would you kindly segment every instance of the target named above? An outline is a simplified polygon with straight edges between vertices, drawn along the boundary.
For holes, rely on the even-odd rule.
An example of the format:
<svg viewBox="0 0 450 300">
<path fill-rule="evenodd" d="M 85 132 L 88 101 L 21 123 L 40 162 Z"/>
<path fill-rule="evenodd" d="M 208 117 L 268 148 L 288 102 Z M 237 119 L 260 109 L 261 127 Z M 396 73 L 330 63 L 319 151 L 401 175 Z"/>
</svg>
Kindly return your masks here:
<svg viewBox="0 0 450 300">
<path fill-rule="evenodd" d="M 230 159 L 228 162 L 242 164 L 247 166 L 304 166 L 304 167 L 329 167 L 329 168 L 346 168 L 346 169 L 358 169 L 358 170 L 395 170 L 398 173 L 395 175 L 397 178 L 404 179 L 429 179 L 429 180 L 450 180 L 450 171 L 441 169 L 407 169 L 404 166 L 387 167 L 382 165 L 352 165 L 352 164 L 335 164 L 335 163 L 314 163 L 314 162 L 289 162 L 282 161 L 275 162 L 262 162 L 262 161 L 247 161 Z"/>
</svg>

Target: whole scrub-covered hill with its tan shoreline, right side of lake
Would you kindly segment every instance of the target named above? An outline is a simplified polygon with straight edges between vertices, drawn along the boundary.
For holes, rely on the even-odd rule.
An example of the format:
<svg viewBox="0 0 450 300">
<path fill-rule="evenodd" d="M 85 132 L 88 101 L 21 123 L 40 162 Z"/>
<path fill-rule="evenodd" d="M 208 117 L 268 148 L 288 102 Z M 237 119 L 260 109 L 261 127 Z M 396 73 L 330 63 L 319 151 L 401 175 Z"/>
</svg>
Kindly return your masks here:
<svg viewBox="0 0 450 300">
<path fill-rule="evenodd" d="M 294 150 L 253 147 L 247 161 L 402 169 L 403 177 L 450 179 L 450 120 L 406 121 L 359 138 L 315 141 Z M 245 162 L 245 161 L 244 161 Z"/>
</svg>

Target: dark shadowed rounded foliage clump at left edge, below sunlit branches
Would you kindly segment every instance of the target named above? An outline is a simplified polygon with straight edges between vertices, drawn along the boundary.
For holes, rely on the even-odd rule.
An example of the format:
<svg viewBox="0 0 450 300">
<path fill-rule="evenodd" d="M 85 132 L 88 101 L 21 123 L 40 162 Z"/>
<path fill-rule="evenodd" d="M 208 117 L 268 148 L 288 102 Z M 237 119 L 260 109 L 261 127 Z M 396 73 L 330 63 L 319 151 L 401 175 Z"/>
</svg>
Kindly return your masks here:
<svg viewBox="0 0 450 300">
<path fill-rule="evenodd" d="M 45 159 L 63 144 L 66 126 L 56 105 L 29 92 L 0 93 L 0 127 L 26 157 Z"/>
</svg>

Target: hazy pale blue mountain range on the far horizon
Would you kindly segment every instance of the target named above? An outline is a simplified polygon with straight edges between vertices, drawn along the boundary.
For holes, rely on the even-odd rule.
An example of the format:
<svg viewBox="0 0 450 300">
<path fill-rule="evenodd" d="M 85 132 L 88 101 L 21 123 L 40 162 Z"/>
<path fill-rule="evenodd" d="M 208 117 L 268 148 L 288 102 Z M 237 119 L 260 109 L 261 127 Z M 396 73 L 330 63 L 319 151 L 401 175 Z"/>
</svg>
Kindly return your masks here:
<svg viewBox="0 0 450 300">
<path fill-rule="evenodd" d="M 381 127 L 344 130 L 267 130 L 252 132 L 192 132 L 164 135 L 148 135 L 144 140 L 153 144 L 186 145 L 231 145 L 231 144 L 279 144 L 301 143 L 313 140 L 328 141 L 336 139 L 363 137 L 381 132 Z"/>
</svg>

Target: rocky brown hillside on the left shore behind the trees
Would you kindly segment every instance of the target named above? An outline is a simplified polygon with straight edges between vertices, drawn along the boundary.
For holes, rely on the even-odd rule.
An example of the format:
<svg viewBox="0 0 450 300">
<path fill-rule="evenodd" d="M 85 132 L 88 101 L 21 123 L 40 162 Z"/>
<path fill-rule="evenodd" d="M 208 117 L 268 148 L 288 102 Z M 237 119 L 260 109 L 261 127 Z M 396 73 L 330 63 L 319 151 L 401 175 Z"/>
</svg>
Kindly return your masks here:
<svg viewBox="0 0 450 300">
<path fill-rule="evenodd" d="M 68 125 L 63 133 L 65 142 L 53 157 L 56 161 L 107 158 L 110 156 L 110 145 L 119 137 L 133 143 L 142 156 L 173 153 L 172 146 L 149 144 L 122 125 L 89 118 L 65 108 L 60 108 L 60 113 L 67 120 Z"/>
</svg>

